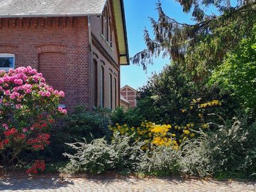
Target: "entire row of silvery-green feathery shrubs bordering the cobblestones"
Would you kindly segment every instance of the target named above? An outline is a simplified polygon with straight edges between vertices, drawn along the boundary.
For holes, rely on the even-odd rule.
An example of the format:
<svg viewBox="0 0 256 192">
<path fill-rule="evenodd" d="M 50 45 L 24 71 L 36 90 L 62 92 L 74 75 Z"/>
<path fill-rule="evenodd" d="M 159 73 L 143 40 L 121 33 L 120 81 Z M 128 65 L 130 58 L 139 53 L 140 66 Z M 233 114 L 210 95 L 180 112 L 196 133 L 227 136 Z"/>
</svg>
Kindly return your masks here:
<svg viewBox="0 0 256 192">
<path fill-rule="evenodd" d="M 144 175 L 191 175 L 198 177 L 255 177 L 256 123 L 234 118 L 224 125 L 211 123 L 214 131 L 203 131 L 195 140 L 179 147 L 135 142 L 134 134 L 116 131 L 108 143 L 104 138 L 91 143 L 67 144 L 74 149 L 64 154 L 70 161 L 66 173 L 106 173 L 110 171 L 143 173 Z"/>
</svg>

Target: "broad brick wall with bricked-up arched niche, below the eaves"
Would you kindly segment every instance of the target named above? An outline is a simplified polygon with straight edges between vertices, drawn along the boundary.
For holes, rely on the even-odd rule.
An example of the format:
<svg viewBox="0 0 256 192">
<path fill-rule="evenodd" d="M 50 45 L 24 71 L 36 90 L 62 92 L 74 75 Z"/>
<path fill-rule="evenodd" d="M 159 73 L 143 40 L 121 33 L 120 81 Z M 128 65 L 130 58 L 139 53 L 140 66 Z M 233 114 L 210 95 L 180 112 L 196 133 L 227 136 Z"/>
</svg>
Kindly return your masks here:
<svg viewBox="0 0 256 192">
<path fill-rule="evenodd" d="M 15 67 L 38 69 L 65 90 L 70 109 L 90 103 L 87 17 L 0 19 L 0 53 L 15 54 Z"/>
</svg>

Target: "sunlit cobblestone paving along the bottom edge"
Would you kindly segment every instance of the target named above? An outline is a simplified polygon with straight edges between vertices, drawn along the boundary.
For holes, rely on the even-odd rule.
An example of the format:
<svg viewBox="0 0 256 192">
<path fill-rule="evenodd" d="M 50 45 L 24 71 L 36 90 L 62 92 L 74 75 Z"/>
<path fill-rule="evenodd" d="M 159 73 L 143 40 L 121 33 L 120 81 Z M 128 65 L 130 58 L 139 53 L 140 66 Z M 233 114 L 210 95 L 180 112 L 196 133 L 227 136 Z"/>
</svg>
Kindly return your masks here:
<svg viewBox="0 0 256 192">
<path fill-rule="evenodd" d="M 182 179 L 0 178 L 0 191 L 256 191 L 256 182 Z"/>
</svg>

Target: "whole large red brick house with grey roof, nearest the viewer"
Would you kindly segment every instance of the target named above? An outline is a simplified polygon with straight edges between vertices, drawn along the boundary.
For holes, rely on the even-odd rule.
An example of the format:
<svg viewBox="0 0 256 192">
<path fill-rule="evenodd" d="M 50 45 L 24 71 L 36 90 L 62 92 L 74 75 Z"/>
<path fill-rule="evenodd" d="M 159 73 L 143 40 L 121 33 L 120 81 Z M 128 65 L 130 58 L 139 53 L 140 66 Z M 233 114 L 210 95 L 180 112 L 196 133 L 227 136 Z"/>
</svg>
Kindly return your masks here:
<svg viewBox="0 0 256 192">
<path fill-rule="evenodd" d="M 36 68 L 68 109 L 120 105 L 127 47 L 123 0 L 1 0 L 0 70 Z"/>
</svg>

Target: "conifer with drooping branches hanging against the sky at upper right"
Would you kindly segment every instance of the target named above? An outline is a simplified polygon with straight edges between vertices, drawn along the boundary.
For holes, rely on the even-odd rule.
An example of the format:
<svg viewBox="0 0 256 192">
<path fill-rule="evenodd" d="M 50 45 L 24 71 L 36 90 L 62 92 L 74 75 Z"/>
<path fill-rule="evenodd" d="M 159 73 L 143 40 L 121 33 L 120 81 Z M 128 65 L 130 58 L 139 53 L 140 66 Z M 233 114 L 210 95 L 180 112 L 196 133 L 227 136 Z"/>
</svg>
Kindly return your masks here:
<svg viewBox="0 0 256 192">
<path fill-rule="evenodd" d="M 147 29 L 144 40 L 147 49 L 138 52 L 132 63 L 147 68 L 154 56 L 170 56 L 177 61 L 194 80 L 204 79 L 212 68 L 220 65 L 225 53 L 236 47 L 244 36 L 252 35 L 256 22 L 256 1 L 239 0 L 232 6 L 230 0 L 178 0 L 185 13 L 191 13 L 195 24 L 180 23 L 163 12 L 157 3 L 158 20 L 150 18 L 154 38 Z M 218 15 L 207 15 L 213 6 Z"/>
</svg>

